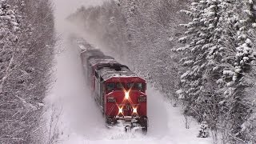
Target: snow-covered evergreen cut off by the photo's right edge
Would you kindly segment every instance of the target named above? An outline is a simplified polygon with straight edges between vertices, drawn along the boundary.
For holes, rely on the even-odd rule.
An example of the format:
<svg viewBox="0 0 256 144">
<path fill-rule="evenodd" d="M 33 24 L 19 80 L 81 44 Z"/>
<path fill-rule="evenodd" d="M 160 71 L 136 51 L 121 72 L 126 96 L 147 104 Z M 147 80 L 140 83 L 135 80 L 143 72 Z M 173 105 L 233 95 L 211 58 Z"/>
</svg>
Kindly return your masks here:
<svg viewBox="0 0 256 144">
<path fill-rule="evenodd" d="M 238 30 L 238 47 L 236 48 L 237 54 L 234 63 L 234 74 L 232 78 L 233 107 L 231 110 L 234 117 L 238 117 L 238 120 L 234 122 L 234 132 L 238 135 L 238 138 L 242 138 L 246 142 L 255 142 L 255 139 L 250 137 L 250 134 L 255 129 L 250 129 L 253 126 L 247 126 L 247 131 L 244 126 L 245 123 L 251 122 L 254 119 L 254 106 L 248 103 L 248 97 L 246 95 L 246 88 L 252 85 L 250 73 L 253 68 L 253 62 L 255 61 L 255 28 L 256 28 L 256 2 L 254 0 L 243 1 L 243 11 L 240 14 L 240 25 Z M 239 113 L 240 112 L 240 113 Z M 248 119 L 248 121 L 247 121 Z M 241 136 L 240 136 L 241 135 Z"/>
</svg>

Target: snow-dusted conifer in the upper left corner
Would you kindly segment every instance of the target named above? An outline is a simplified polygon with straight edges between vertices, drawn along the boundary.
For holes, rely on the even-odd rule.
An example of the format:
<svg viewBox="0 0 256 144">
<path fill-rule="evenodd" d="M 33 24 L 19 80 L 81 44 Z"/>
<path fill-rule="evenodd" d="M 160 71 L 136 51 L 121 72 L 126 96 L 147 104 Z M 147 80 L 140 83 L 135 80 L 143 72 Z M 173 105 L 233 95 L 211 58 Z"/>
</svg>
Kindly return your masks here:
<svg viewBox="0 0 256 144">
<path fill-rule="evenodd" d="M 0 93 L 3 92 L 6 78 L 16 68 L 14 58 L 17 57 L 18 49 L 15 49 L 14 46 L 18 42 L 19 17 L 21 16 L 16 14 L 6 1 L 0 1 Z"/>
</svg>

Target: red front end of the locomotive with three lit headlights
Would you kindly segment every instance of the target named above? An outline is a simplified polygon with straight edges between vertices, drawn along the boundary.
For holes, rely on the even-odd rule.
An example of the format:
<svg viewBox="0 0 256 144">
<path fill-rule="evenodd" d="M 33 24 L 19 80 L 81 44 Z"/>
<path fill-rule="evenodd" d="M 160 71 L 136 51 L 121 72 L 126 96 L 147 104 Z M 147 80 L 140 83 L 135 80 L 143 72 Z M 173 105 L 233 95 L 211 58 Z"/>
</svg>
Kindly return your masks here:
<svg viewBox="0 0 256 144">
<path fill-rule="evenodd" d="M 146 82 L 138 77 L 111 78 L 105 86 L 107 126 L 122 121 L 130 128 L 140 127 L 146 132 Z"/>
</svg>

